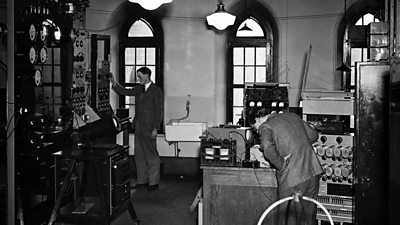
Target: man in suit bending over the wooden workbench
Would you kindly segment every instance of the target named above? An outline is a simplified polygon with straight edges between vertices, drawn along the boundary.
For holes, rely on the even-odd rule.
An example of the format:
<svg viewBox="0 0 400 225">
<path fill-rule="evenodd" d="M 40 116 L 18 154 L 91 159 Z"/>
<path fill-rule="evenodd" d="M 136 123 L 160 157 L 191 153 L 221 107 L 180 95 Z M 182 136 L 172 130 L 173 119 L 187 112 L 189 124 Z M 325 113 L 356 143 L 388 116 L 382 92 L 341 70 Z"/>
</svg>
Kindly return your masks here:
<svg viewBox="0 0 400 225">
<path fill-rule="evenodd" d="M 260 150 L 276 168 L 278 197 L 297 193 L 317 199 L 322 166 L 312 143 L 318 132 L 294 113 L 271 113 L 260 109 L 248 116 L 249 124 L 260 135 Z M 316 223 L 317 207 L 313 202 L 286 201 L 278 207 L 279 224 L 311 225 Z"/>
</svg>

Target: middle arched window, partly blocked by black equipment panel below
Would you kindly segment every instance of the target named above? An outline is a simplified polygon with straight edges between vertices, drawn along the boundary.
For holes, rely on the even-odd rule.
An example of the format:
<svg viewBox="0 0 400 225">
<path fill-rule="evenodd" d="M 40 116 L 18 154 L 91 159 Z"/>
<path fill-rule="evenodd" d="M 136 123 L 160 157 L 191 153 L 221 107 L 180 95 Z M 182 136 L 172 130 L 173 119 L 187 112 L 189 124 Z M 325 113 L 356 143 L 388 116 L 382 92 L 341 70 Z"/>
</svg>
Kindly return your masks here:
<svg viewBox="0 0 400 225">
<path fill-rule="evenodd" d="M 234 124 L 243 117 L 246 85 L 277 81 L 273 73 L 277 46 L 273 28 L 267 21 L 254 14 L 247 15 L 237 21 L 229 37 L 226 117 Z"/>
</svg>

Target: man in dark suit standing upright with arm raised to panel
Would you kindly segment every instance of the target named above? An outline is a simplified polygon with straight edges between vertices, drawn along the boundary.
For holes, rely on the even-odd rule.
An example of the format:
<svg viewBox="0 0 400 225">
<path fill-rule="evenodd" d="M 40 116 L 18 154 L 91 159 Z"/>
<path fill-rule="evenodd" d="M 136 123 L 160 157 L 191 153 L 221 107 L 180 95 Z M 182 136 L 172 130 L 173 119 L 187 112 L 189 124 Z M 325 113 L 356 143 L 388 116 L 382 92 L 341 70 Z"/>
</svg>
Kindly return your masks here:
<svg viewBox="0 0 400 225">
<path fill-rule="evenodd" d="M 135 96 L 135 163 L 137 183 L 132 188 L 158 189 L 160 180 L 160 157 L 157 151 L 157 129 L 163 118 L 164 100 L 160 87 L 151 79 L 151 70 L 141 67 L 137 78 L 141 85 L 128 89 L 111 77 L 112 88 L 120 95 Z"/>
</svg>

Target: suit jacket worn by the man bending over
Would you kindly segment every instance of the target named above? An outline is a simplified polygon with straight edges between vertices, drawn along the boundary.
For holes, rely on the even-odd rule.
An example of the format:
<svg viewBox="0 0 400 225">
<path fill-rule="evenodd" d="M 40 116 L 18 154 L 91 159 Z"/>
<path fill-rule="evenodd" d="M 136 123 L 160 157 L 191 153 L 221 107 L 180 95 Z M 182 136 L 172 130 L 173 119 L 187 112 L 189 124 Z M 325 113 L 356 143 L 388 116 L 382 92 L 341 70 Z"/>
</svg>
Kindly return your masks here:
<svg viewBox="0 0 400 225">
<path fill-rule="evenodd" d="M 312 143 L 318 132 L 294 113 L 270 114 L 259 127 L 264 156 L 277 168 L 280 191 L 323 173 Z M 285 162 L 284 157 L 290 154 Z"/>
</svg>

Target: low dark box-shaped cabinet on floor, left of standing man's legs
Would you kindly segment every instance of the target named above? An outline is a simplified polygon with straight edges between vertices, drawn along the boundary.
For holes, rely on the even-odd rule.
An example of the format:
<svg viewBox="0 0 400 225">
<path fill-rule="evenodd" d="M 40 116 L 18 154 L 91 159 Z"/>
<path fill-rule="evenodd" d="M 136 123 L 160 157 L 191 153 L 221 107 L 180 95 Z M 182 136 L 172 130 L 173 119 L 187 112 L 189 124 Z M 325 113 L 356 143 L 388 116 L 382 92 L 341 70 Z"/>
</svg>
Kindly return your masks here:
<svg viewBox="0 0 400 225">
<path fill-rule="evenodd" d="M 55 157 L 55 199 L 50 222 L 111 223 L 129 210 L 131 169 L 128 146 L 84 145 L 57 152 Z"/>
</svg>

